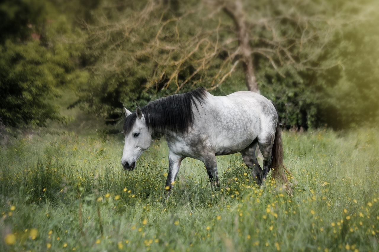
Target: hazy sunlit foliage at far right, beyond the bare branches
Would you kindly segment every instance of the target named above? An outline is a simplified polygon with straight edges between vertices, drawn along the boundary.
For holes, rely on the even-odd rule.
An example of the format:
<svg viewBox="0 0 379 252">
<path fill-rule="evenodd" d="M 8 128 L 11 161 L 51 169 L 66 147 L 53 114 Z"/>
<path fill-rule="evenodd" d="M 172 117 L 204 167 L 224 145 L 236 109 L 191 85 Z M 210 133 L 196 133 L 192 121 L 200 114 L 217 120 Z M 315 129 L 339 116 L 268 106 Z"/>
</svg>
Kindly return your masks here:
<svg viewBox="0 0 379 252">
<path fill-rule="evenodd" d="M 379 118 L 379 15 L 365 13 L 369 18 L 359 20 L 343 29 L 335 37 L 335 46 L 330 50 L 338 54 L 339 69 L 334 69 L 340 78 L 327 89 L 326 116 L 333 126 L 341 123 L 357 126 L 362 121 L 375 122 Z M 334 73 L 335 74 L 335 73 Z"/>
</svg>

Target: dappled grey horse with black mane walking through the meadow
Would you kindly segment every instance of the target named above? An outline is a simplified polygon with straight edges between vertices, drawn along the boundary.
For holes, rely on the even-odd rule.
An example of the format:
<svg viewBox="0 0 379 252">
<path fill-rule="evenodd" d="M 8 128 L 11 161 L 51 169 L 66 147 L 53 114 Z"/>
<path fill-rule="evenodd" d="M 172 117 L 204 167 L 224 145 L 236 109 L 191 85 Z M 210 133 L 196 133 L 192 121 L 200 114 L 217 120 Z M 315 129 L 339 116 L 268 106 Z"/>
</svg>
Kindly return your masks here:
<svg viewBox="0 0 379 252">
<path fill-rule="evenodd" d="M 240 152 L 258 185 L 266 180 L 270 169 L 273 178 L 288 188 L 283 165 L 283 147 L 278 113 L 271 101 L 250 91 L 227 96 L 213 96 L 203 88 L 188 93 L 159 98 L 146 106 L 136 107 L 126 115 L 121 164 L 133 171 L 138 158 L 150 147 L 152 134 L 166 137 L 169 168 L 165 185 L 167 197 L 186 157 L 204 163 L 212 187 L 219 188 L 216 156 Z M 263 169 L 255 156 L 263 155 Z"/>
</svg>

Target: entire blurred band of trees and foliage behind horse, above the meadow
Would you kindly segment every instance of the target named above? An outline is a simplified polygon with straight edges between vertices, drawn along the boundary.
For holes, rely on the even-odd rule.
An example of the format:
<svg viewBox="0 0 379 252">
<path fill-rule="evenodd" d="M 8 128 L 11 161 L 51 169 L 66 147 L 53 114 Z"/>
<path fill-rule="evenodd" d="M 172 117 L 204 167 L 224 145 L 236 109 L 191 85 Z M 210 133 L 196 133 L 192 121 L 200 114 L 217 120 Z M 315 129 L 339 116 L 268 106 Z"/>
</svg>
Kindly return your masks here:
<svg viewBox="0 0 379 252">
<path fill-rule="evenodd" d="M 9 1 L 0 5 L 6 21 L 0 25 L 0 117 L 8 125 L 60 120 L 48 97 L 69 86 L 78 96 L 73 106 L 115 123 L 122 105 L 134 110 L 201 86 L 215 95 L 260 92 L 277 104 L 287 128 L 373 122 L 379 110 L 378 5 Z"/>
</svg>

